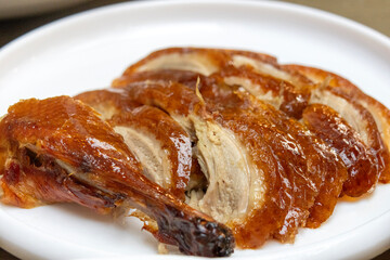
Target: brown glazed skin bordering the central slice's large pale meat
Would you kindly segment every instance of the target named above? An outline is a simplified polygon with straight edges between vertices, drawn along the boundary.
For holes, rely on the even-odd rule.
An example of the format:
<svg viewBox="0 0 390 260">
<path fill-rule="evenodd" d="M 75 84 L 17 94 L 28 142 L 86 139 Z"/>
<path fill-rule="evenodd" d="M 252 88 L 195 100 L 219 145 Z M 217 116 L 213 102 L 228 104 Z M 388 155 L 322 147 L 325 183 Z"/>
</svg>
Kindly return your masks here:
<svg viewBox="0 0 390 260">
<path fill-rule="evenodd" d="M 156 104 L 158 107 L 169 112 L 170 115 L 186 117 L 196 113 L 192 112 L 191 108 L 185 112 L 181 109 L 186 104 L 184 98 L 181 99 L 182 96 L 187 100 L 192 95 L 192 103 L 200 102 L 193 89 L 178 82 L 142 83 L 142 81 L 139 81 L 127 84 L 126 90 L 132 100 Z M 183 92 L 188 94 L 183 95 Z M 192 94 L 190 95 L 190 93 Z M 208 102 L 208 99 L 206 98 L 205 101 Z M 257 125 L 256 121 L 250 119 L 249 113 L 240 112 L 237 114 L 224 109 L 223 114 L 214 113 L 212 116 L 211 110 L 206 108 L 204 113 L 208 116 L 205 116 L 204 119 L 216 121 L 219 126 L 231 130 L 240 143 L 245 143 L 245 146 L 243 144 L 242 146 L 251 157 L 250 167 L 266 172 L 262 180 L 262 188 L 265 191 L 261 202 L 253 202 L 253 206 L 248 208 L 244 217 L 229 218 L 231 223 L 227 225 L 233 227 L 237 245 L 243 248 L 253 248 L 262 245 L 277 229 L 283 226 L 284 218 L 291 210 L 294 202 L 289 196 L 291 187 L 287 172 L 281 166 L 276 151 L 268 141 L 270 138 L 274 138 L 276 143 L 276 140 L 281 141 L 286 136 L 281 133 L 283 136 L 277 139 L 268 121 L 263 121 L 264 125 L 261 126 Z M 265 135 L 269 138 L 262 141 Z M 242 172 L 238 171 L 236 174 L 242 174 Z M 243 174 L 242 179 L 244 178 Z M 269 221 L 270 219 L 273 219 L 273 221 Z"/>
</svg>

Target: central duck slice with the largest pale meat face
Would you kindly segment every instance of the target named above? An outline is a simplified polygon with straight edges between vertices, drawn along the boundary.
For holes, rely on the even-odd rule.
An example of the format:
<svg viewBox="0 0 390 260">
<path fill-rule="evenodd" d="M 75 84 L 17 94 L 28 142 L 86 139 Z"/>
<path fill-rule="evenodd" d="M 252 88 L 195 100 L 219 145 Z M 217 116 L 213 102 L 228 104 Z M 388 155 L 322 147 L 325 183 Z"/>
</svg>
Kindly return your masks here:
<svg viewBox="0 0 390 260">
<path fill-rule="evenodd" d="M 271 146 L 262 142 L 261 132 L 248 134 L 250 130 L 246 129 L 251 127 L 245 116 L 236 118 L 234 113 L 219 117 L 208 110 L 196 90 L 178 82 L 122 83 L 134 102 L 166 110 L 195 140 L 195 156 L 208 185 L 206 191 L 190 191 L 191 206 L 232 227 L 242 248 L 261 246 L 282 227 L 291 207 L 291 186 Z M 264 131 L 270 132 L 271 127 L 264 126 Z"/>
</svg>

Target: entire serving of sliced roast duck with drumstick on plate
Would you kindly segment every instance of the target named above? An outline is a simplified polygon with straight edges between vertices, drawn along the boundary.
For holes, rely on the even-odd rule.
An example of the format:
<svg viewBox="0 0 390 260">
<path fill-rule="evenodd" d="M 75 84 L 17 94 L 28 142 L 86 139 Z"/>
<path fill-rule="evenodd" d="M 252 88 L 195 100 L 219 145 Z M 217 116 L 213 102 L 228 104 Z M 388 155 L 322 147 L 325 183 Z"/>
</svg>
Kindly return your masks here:
<svg viewBox="0 0 390 260">
<path fill-rule="evenodd" d="M 341 196 L 390 181 L 390 112 L 344 78 L 171 48 L 108 89 L 24 100 L 0 122 L 1 202 L 135 209 L 186 255 L 292 243 Z"/>
</svg>

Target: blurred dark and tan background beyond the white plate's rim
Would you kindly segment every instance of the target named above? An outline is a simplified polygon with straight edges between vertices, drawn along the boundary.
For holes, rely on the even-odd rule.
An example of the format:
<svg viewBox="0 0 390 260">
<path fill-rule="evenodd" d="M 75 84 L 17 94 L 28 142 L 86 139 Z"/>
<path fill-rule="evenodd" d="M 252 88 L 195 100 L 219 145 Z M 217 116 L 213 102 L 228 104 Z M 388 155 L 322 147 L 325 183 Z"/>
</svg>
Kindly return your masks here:
<svg viewBox="0 0 390 260">
<path fill-rule="evenodd" d="M 282 0 L 281 0 L 282 1 Z M 356 21 L 390 37 L 390 0 L 283 0 Z M 52 21 L 123 0 L 0 0 L 0 50 L 8 42 Z M 0 231 L 1 232 L 1 231 Z M 1 236 L 0 235 L 0 244 Z M 0 260 L 17 258 L 0 248 Z M 389 260 L 390 249 L 375 258 Z"/>
</svg>

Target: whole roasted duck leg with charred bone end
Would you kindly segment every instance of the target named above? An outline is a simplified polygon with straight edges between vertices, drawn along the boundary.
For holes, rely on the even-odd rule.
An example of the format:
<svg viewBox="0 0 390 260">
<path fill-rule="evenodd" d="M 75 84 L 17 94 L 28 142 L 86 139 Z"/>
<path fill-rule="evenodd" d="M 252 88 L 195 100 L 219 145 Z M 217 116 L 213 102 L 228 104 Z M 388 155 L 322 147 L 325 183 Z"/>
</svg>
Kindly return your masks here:
<svg viewBox="0 0 390 260">
<path fill-rule="evenodd" d="M 160 242 L 184 253 L 232 253 L 230 230 L 147 180 L 123 139 L 81 102 L 22 101 L 9 108 L 0 132 L 2 203 L 74 202 L 103 212 L 131 206 L 156 220 Z"/>
</svg>

